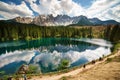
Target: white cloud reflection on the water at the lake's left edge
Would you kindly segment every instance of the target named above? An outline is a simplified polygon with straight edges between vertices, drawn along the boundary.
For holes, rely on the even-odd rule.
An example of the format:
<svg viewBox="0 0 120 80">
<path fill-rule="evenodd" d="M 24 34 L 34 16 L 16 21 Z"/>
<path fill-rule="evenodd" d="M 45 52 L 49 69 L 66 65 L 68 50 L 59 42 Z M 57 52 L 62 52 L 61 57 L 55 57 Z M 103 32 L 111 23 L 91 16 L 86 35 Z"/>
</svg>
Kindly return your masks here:
<svg viewBox="0 0 120 80">
<path fill-rule="evenodd" d="M 14 51 L 0 56 L 0 68 L 13 62 L 24 61 L 29 63 L 32 57 L 35 56 L 33 51 Z"/>
</svg>

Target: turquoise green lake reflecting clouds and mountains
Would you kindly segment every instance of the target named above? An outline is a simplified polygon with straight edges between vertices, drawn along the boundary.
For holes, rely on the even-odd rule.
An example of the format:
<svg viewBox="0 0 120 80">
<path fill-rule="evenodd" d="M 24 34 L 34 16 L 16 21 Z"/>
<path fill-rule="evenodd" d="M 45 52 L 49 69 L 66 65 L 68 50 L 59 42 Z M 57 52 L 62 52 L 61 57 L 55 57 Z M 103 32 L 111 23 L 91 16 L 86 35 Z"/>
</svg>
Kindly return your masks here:
<svg viewBox="0 0 120 80">
<path fill-rule="evenodd" d="M 103 39 L 42 38 L 0 42 L 0 72 L 15 73 L 22 64 L 37 66 L 42 73 L 56 71 L 62 59 L 69 67 L 80 66 L 111 53 Z"/>
</svg>

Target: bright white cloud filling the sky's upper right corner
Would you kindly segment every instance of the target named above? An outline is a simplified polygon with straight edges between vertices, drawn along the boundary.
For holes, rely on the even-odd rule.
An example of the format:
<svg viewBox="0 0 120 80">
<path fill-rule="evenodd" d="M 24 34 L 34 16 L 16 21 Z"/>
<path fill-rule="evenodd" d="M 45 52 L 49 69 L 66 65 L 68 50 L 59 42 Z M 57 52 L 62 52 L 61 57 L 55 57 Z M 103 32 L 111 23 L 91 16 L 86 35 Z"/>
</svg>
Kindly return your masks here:
<svg viewBox="0 0 120 80">
<path fill-rule="evenodd" d="M 89 18 L 98 17 L 102 20 L 114 19 L 120 22 L 120 1 L 119 0 L 97 0 L 88 8 Z"/>
</svg>

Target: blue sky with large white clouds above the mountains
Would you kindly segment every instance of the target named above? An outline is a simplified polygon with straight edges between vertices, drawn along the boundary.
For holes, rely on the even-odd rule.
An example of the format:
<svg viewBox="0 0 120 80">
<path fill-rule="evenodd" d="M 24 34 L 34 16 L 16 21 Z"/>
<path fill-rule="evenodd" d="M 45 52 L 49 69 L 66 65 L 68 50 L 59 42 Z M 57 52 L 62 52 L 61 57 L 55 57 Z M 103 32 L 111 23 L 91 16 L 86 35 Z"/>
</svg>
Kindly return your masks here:
<svg viewBox="0 0 120 80">
<path fill-rule="evenodd" d="M 43 14 L 84 15 L 120 22 L 120 0 L 0 0 L 0 20 Z"/>
</svg>

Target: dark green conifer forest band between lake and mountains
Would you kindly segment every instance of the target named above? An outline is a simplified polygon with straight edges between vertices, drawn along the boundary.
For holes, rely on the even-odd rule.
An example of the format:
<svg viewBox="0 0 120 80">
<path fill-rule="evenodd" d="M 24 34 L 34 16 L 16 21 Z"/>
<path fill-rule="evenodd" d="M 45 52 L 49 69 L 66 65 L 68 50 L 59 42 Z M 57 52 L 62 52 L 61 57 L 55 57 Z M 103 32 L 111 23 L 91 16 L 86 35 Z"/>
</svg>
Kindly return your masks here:
<svg viewBox="0 0 120 80">
<path fill-rule="evenodd" d="M 46 37 L 105 38 L 120 40 L 120 25 L 109 26 L 36 26 L 9 21 L 0 21 L 0 41 L 32 40 Z"/>
</svg>

